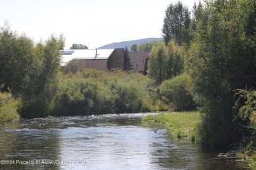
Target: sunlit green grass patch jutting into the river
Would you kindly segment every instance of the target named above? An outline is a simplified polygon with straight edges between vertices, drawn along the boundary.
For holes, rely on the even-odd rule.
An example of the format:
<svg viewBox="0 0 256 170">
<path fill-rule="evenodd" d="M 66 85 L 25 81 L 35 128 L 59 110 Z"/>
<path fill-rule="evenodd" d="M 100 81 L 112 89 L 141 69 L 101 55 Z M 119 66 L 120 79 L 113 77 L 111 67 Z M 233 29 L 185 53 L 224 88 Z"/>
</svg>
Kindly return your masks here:
<svg viewBox="0 0 256 170">
<path fill-rule="evenodd" d="M 179 138 L 200 141 L 196 133 L 196 127 L 201 120 L 199 112 L 161 112 L 146 116 L 142 120 L 165 124 L 168 131 Z"/>
</svg>

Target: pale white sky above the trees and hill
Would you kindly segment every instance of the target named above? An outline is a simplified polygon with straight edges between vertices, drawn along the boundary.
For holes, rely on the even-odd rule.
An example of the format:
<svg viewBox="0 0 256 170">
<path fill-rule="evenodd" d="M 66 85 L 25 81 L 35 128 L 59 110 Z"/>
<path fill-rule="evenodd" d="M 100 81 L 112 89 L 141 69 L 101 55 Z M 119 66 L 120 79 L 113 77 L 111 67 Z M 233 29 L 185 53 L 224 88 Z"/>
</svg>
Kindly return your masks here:
<svg viewBox="0 0 256 170">
<path fill-rule="evenodd" d="M 161 37 L 165 9 L 177 0 L 0 0 L 0 26 L 35 43 L 63 34 L 65 48 Z M 182 0 L 190 9 L 193 0 Z"/>
</svg>

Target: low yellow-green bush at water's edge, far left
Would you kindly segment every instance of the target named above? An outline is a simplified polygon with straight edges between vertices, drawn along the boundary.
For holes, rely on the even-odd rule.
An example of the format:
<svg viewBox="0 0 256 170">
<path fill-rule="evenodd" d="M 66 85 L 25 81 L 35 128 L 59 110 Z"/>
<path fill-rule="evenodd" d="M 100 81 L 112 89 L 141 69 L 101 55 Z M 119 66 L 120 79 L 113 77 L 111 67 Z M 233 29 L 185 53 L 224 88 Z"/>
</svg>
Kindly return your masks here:
<svg viewBox="0 0 256 170">
<path fill-rule="evenodd" d="M 11 122 L 20 117 L 17 112 L 18 103 L 11 93 L 0 92 L 0 123 Z"/>
</svg>

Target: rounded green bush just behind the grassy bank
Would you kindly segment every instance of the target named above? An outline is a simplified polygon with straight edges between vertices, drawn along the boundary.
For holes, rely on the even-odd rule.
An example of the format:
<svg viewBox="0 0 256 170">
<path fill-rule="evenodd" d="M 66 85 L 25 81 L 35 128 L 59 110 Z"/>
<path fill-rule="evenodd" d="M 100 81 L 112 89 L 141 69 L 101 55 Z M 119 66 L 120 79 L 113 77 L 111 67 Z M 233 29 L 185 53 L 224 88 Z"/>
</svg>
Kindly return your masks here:
<svg viewBox="0 0 256 170">
<path fill-rule="evenodd" d="M 190 93 L 191 84 L 192 80 L 186 74 L 163 81 L 159 86 L 161 100 L 171 105 L 175 111 L 195 110 L 195 103 Z"/>
</svg>

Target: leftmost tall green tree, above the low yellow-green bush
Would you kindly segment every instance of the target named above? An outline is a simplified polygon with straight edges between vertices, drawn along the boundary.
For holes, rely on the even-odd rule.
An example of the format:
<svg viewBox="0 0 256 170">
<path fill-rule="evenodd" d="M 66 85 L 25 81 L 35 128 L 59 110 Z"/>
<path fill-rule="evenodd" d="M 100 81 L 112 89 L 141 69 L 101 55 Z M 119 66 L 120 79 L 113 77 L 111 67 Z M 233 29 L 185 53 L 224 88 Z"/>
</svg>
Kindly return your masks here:
<svg viewBox="0 0 256 170">
<path fill-rule="evenodd" d="M 12 90 L 14 96 L 23 93 L 26 76 L 32 70 L 33 42 L 26 35 L 11 31 L 9 24 L 0 29 L 0 86 Z"/>
</svg>

